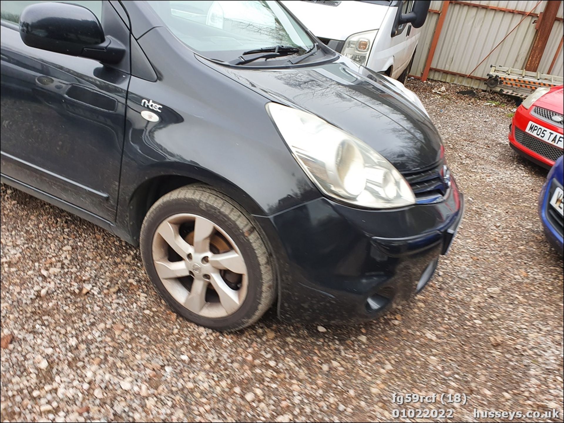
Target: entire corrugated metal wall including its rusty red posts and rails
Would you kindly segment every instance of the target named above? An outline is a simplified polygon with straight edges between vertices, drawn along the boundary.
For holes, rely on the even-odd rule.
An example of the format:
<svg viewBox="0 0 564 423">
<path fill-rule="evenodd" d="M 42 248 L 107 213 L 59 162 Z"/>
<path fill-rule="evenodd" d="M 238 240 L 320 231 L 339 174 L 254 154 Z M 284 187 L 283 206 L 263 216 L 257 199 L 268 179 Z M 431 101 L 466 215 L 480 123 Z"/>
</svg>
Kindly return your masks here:
<svg viewBox="0 0 564 423">
<path fill-rule="evenodd" d="M 490 65 L 563 76 L 562 3 L 433 1 L 410 74 L 474 88 Z"/>
</svg>

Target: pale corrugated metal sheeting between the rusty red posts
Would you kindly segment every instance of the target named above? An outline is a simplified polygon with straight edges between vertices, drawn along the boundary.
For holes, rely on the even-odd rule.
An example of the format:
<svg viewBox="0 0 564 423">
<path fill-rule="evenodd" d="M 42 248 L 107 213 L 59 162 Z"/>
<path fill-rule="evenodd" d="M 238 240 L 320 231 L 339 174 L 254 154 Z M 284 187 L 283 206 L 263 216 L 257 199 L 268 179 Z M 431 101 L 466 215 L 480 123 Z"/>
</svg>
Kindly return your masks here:
<svg viewBox="0 0 564 423">
<path fill-rule="evenodd" d="M 535 22 L 537 16 L 526 16 L 511 11 L 495 10 L 493 8 L 482 8 L 462 3 L 479 3 L 485 6 L 506 8 L 510 10 L 539 14 L 544 11 L 547 1 L 468 1 L 450 2 L 440 32 L 437 48 L 431 61 L 431 70 L 428 78 L 439 81 L 454 82 L 474 88 L 484 88 L 484 81 L 480 79 L 466 78 L 469 72 L 475 68 L 480 61 L 499 43 L 519 21 L 508 38 L 476 69 L 472 75 L 487 78 L 490 65 L 511 66 L 523 69 L 528 58 L 532 43 L 535 39 Z M 538 4 L 537 4 L 538 3 Z M 535 7 L 536 6 L 536 7 Z M 421 39 L 417 46 L 415 59 L 411 68 L 411 74 L 421 76 L 433 35 L 437 28 L 439 13 L 443 7 L 442 1 L 432 1 L 429 15 L 421 31 Z M 557 17 L 562 17 L 562 1 Z M 548 73 L 554 54 L 562 40 L 564 24 L 557 20 L 552 28 L 552 33 L 544 50 L 539 65 L 539 72 Z M 564 75 L 564 59 L 560 49 L 559 57 L 552 69 L 552 74 Z M 441 69 L 452 73 L 440 72 Z M 462 75 L 456 75 L 459 73 Z"/>
</svg>

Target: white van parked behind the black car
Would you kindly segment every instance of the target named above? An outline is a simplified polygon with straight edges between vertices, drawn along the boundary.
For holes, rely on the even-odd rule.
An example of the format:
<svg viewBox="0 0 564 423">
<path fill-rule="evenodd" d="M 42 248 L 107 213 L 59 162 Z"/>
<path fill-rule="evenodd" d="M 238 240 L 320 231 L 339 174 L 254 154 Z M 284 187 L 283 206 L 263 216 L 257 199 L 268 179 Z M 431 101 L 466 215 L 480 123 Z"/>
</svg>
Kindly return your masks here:
<svg viewBox="0 0 564 423">
<path fill-rule="evenodd" d="M 431 2 L 286 0 L 282 3 L 333 50 L 404 82 Z"/>
</svg>

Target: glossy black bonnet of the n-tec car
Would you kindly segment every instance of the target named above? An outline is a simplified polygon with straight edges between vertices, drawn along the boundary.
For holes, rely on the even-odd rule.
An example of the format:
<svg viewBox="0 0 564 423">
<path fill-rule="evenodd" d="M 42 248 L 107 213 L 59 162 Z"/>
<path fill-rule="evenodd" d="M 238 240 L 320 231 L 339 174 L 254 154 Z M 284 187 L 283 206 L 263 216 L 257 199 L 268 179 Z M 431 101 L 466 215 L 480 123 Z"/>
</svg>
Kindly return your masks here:
<svg viewBox="0 0 564 423">
<path fill-rule="evenodd" d="M 313 113 L 349 132 L 400 172 L 425 170 L 442 158 L 442 141 L 424 112 L 384 77 L 345 57 L 278 69 L 201 61 L 271 101 Z"/>
</svg>

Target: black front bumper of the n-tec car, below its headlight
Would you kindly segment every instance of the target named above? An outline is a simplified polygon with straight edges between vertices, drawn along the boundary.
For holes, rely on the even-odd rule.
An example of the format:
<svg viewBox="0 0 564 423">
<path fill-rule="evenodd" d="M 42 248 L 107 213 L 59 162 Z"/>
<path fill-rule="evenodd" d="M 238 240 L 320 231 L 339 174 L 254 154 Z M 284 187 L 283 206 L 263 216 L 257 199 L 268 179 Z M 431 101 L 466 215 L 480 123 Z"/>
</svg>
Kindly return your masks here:
<svg viewBox="0 0 564 423">
<path fill-rule="evenodd" d="M 456 233 L 464 201 L 358 210 L 319 198 L 259 217 L 275 251 L 283 320 L 352 323 L 410 299 L 430 279 Z"/>
</svg>

